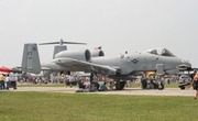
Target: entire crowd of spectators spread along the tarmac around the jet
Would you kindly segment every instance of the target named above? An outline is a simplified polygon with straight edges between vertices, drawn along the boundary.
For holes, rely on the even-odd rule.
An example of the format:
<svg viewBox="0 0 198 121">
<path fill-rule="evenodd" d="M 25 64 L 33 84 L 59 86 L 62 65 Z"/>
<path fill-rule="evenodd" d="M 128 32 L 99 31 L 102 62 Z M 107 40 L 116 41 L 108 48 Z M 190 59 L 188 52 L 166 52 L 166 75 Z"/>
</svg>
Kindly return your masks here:
<svg viewBox="0 0 198 121">
<path fill-rule="evenodd" d="M 175 76 L 175 80 L 179 80 L 179 77 Z M 198 98 L 198 73 L 197 70 L 194 72 L 194 74 L 190 75 L 191 78 L 191 87 L 196 90 L 195 99 Z M 88 78 L 87 76 L 73 76 L 73 75 L 57 75 L 53 76 L 50 79 L 46 79 L 44 76 L 37 76 L 33 77 L 30 76 L 26 79 L 15 79 L 19 82 L 28 82 L 28 84 L 47 84 L 47 82 L 65 82 L 65 86 L 73 87 L 73 82 L 75 81 L 78 84 L 78 87 L 80 90 L 85 91 L 108 91 L 108 90 L 114 90 L 116 89 L 116 82 L 113 79 L 106 78 L 105 76 L 97 76 L 94 75 L 92 80 Z M 141 78 L 136 79 L 139 81 L 140 87 L 143 89 L 154 89 L 156 81 L 165 81 L 164 76 L 162 78 L 147 78 L 146 75 L 142 75 Z M 127 86 L 128 86 L 128 80 Z M 0 90 L 9 90 L 11 84 L 11 78 L 9 74 L 0 74 Z M 108 86 L 107 86 L 108 84 Z M 167 84 L 170 84 L 170 79 L 167 79 Z"/>
</svg>

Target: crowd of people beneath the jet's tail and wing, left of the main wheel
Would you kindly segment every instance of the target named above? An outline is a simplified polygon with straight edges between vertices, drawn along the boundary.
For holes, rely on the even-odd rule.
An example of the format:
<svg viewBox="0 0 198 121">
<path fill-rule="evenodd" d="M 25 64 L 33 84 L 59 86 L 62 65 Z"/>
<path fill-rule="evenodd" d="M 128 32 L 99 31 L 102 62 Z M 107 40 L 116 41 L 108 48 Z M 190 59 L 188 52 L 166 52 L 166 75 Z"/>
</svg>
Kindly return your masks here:
<svg viewBox="0 0 198 121">
<path fill-rule="evenodd" d="M 73 87 L 74 85 L 79 87 L 79 89 L 96 91 L 96 90 L 113 90 L 114 81 L 108 79 L 105 76 L 94 75 L 92 80 L 88 76 L 78 76 L 78 75 L 65 75 L 65 74 L 52 74 L 50 78 L 44 76 L 29 76 L 26 78 L 21 77 L 18 79 L 18 82 L 23 85 L 42 85 L 42 84 L 65 84 L 66 87 Z M 101 84 L 102 82 L 102 84 Z M 109 84 L 108 84 L 109 82 Z M 107 84 L 109 87 L 107 87 Z"/>
</svg>

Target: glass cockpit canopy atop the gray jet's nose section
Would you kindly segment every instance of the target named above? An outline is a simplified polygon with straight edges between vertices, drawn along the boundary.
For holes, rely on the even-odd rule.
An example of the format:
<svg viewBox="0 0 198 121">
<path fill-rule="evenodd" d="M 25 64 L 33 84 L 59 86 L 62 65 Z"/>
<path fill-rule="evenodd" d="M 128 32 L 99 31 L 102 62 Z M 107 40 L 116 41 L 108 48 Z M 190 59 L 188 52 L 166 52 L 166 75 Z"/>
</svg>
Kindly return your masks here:
<svg viewBox="0 0 198 121">
<path fill-rule="evenodd" d="M 152 48 L 145 51 L 145 53 L 154 54 L 154 55 L 161 55 L 161 56 L 169 56 L 169 57 L 175 57 L 174 54 L 172 54 L 166 48 Z"/>
</svg>

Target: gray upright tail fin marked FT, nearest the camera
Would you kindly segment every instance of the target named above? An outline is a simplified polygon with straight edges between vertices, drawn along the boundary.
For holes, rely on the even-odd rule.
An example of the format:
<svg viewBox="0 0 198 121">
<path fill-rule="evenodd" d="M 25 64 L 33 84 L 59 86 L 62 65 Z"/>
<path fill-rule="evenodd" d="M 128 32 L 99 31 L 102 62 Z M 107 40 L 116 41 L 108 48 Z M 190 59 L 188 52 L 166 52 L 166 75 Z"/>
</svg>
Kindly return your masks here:
<svg viewBox="0 0 198 121">
<path fill-rule="evenodd" d="M 35 43 L 24 44 L 21 70 L 33 74 L 41 73 L 41 63 L 40 63 L 37 44 Z"/>
</svg>

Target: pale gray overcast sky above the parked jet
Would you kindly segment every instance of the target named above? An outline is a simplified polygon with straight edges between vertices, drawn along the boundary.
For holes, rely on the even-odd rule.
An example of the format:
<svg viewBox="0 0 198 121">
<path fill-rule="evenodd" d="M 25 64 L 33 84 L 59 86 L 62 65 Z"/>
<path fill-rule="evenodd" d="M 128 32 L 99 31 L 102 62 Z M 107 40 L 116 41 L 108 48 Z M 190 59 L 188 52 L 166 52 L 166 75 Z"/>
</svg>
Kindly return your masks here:
<svg viewBox="0 0 198 121">
<path fill-rule="evenodd" d="M 0 0 L 0 66 L 21 66 L 24 43 L 61 38 L 106 56 L 166 47 L 198 67 L 198 0 Z M 38 46 L 41 62 L 53 50 Z"/>
</svg>

